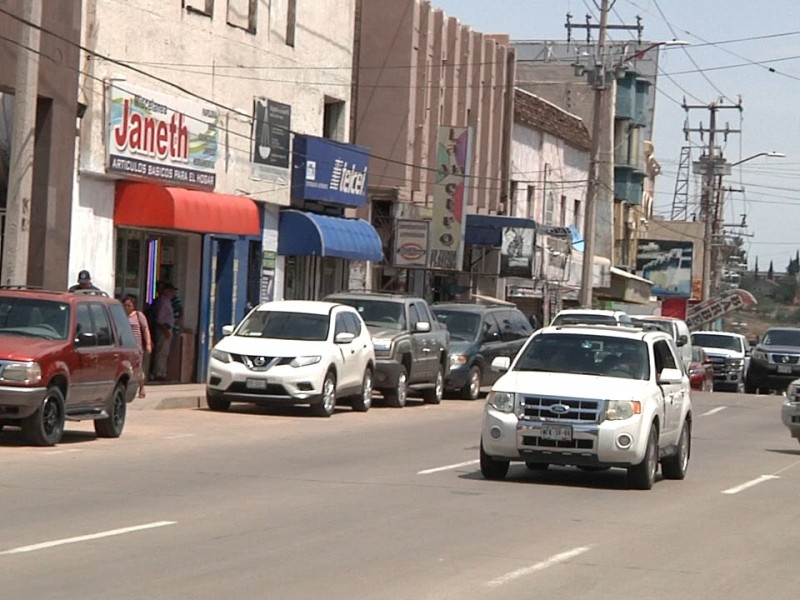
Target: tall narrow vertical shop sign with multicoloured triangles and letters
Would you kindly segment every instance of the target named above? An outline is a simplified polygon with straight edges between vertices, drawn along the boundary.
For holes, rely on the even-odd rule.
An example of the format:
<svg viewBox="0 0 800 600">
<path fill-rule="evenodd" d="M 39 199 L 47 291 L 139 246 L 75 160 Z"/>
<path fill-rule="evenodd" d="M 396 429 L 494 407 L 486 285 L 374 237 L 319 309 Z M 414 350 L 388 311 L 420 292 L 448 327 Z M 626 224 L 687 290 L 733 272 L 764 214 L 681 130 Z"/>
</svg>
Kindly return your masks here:
<svg viewBox="0 0 800 600">
<path fill-rule="evenodd" d="M 472 130 L 469 127 L 440 127 L 436 147 L 438 162 L 428 266 L 458 271 L 464 257 Z"/>
</svg>

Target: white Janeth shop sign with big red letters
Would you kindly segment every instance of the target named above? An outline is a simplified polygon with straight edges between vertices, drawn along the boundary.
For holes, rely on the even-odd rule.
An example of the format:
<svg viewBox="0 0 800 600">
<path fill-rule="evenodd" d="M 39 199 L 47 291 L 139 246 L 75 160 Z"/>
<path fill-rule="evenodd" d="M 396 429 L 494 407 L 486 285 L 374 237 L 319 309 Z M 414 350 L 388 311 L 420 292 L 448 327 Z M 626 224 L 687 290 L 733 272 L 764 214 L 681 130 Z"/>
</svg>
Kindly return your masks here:
<svg viewBox="0 0 800 600">
<path fill-rule="evenodd" d="M 131 86 L 108 89 L 109 173 L 180 187 L 213 189 L 219 111 Z"/>
</svg>

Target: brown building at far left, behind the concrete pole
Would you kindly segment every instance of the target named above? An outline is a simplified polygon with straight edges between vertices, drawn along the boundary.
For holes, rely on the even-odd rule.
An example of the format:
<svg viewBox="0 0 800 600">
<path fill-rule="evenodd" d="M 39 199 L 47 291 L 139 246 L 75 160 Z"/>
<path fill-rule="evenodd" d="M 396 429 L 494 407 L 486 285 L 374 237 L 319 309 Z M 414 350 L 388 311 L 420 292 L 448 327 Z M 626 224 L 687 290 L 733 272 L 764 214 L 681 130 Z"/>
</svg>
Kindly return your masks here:
<svg viewBox="0 0 800 600">
<path fill-rule="evenodd" d="M 14 87 L 25 0 L 0 3 L 0 244 L 4 237 Z M 38 102 L 30 204 L 29 285 L 66 289 L 70 249 L 73 157 L 78 123 L 80 2 L 57 2 L 42 11 Z M 0 246 L 0 265 L 8 248 Z"/>
</svg>

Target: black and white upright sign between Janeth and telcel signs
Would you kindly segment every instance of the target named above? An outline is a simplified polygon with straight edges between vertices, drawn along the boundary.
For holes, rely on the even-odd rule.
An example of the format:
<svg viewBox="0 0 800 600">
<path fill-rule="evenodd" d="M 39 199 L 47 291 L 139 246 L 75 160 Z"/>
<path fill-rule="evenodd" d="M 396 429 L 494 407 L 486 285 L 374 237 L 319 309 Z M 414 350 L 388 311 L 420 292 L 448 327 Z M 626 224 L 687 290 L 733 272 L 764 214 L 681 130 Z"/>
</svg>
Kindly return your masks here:
<svg viewBox="0 0 800 600">
<path fill-rule="evenodd" d="M 268 98 L 253 100 L 253 147 L 250 173 L 253 179 L 289 181 L 292 107 Z"/>
</svg>

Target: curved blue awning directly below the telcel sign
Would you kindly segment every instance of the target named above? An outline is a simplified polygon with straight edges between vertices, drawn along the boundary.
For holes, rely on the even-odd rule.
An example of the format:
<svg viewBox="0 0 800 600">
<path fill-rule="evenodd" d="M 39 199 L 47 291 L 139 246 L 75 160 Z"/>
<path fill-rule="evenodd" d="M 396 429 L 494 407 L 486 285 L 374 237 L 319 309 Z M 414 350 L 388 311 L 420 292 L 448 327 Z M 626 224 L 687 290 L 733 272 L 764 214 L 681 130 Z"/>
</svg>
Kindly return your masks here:
<svg viewBox="0 0 800 600">
<path fill-rule="evenodd" d="M 278 225 L 278 254 L 378 261 L 383 258 L 383 248 L 378 232 L 364 219 L 283 210 Z"/>
</svg>

